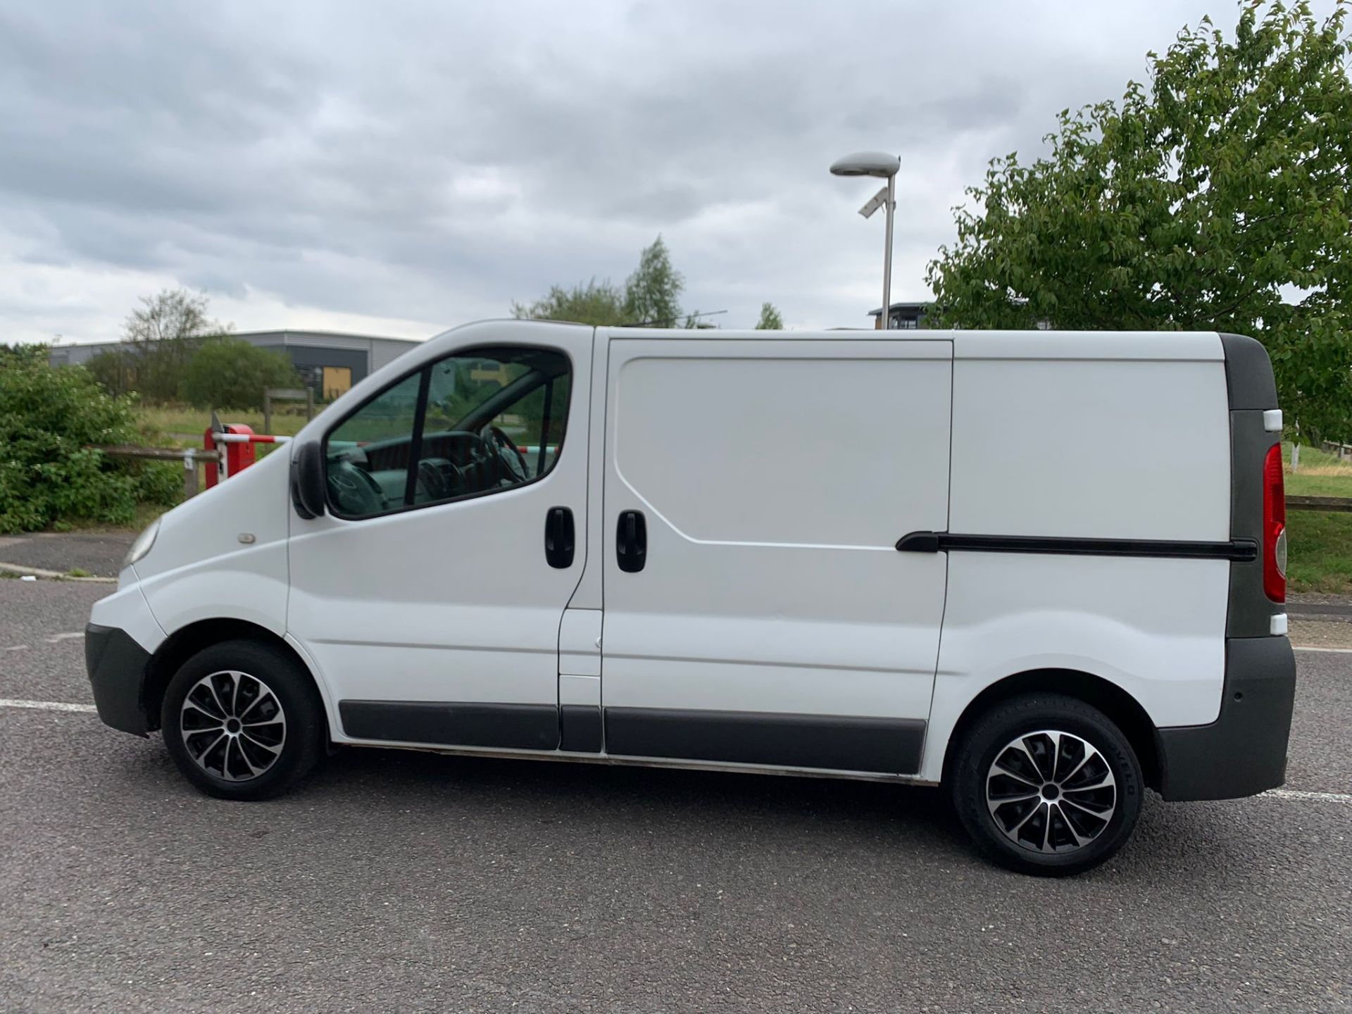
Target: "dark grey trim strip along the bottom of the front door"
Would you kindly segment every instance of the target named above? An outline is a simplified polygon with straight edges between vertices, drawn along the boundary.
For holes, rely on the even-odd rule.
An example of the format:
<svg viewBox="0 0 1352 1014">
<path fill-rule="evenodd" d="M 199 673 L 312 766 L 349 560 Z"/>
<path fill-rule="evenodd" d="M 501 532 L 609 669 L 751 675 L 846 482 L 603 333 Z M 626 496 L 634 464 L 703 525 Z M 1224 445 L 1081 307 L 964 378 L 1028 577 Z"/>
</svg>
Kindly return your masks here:
<svg viewBox="0 0 1352 1014">
<path fill-rule="evenodd" d="M 445 746 L 558 748 L 554 704 L 481 704 L 442 700 L 339 700 L 342 729 L 356 740 Z"/>
</svg>

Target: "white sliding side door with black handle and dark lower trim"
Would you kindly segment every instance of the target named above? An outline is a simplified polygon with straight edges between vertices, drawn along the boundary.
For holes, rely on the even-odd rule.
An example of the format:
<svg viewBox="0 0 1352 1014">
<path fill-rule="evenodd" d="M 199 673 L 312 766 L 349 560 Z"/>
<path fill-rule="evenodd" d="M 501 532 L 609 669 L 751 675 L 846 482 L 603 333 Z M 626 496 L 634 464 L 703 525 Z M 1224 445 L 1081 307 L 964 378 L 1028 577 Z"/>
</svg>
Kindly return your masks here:
<svg viewBox="0 0 1352 1014">
<path fill-rule="evenodd" d="M 948 341 L 611 339 L 607 753 L 919 769 L 950 392 Z"/>
</svg>

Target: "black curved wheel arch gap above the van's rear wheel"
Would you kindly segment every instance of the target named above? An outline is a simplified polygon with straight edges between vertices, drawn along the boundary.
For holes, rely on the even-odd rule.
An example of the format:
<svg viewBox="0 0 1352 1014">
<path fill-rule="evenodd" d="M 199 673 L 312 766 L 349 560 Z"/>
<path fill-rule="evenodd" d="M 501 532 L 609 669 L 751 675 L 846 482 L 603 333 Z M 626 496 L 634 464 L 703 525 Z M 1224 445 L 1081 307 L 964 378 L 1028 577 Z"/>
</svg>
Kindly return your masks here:
<svg viewBox="0 0 1352 1014">
<path fill-rule="evenodd" d="M 944 750 L 944 780 L 948 781 L 949 765 L 957 753 L 957 744 L 967 730 L 990 707 L 1022 696 L 1023 694 L 1061 694 L 1082 700 L 1098 708 L 1122 730 L 1141 763 L 1141 775 L 1149 788 L 1160 787 L 1160 738 L 1155 722 L 1141 707 L 1141 703 L 1115 683 L 1079 669 L 1029 669 L 1013 673 L 983 690 L 959 715 L 948 746 Z"/>
</svg>

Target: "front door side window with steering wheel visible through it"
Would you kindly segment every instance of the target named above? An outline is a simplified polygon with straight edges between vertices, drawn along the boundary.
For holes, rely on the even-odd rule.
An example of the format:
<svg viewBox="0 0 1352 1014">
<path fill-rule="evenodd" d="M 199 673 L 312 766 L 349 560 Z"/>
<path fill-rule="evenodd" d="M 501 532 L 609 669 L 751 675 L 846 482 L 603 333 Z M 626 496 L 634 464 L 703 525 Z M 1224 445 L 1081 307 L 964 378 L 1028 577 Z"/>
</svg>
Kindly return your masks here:
<svg viewBox="0 0 1352 1014">
<path fill-rule="evenodd" d="M 549 473 L 564 442 L 571 375 L 552 349 L 457 353 L 366 402 L 326 441 L 341 518 L 511 489 Z"/>
</svg>

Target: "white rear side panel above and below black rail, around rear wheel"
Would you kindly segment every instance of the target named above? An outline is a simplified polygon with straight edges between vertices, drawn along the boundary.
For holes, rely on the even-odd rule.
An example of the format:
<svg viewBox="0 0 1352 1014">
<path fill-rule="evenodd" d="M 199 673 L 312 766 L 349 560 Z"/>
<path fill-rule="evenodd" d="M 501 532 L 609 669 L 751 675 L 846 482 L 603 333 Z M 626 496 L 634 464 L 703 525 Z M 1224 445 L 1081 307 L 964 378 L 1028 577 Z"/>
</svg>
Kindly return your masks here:
<svg viewBox="0 0 1352 1014">
<path fill-rule="evenodd" d="M 1160 361 L 1115 358 L 1102 342 L 1102 358 L 1075 360 L 1036 357 L 1037 338 L 1022 349 L 1015 335 L 1003 349 L 955 342 L 949 533 L 1228 542 L 1224 353 L 1215 335 L 1191 338 L 1182 353 L 1192 358 L 1175 346 Z M 1101 676 L 1156 726 L 1220 714 L 1228 560 L 957 550 L 948 558 L 923 779 L 940 779 L 967 704 L 1030 669 Z"/>
</svg>

